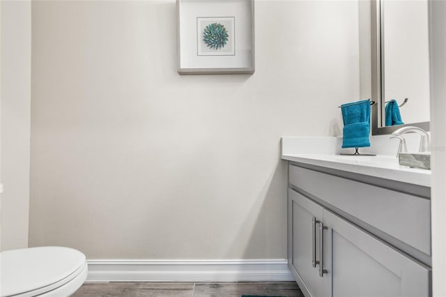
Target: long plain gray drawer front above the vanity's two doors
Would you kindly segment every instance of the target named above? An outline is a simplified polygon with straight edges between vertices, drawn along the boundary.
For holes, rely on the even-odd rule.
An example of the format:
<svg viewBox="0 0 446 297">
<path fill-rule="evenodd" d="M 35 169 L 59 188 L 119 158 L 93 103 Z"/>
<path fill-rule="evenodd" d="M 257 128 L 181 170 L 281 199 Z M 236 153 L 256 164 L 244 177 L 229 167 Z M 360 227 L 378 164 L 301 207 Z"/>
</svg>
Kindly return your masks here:
<svg viewBox="0 0 446 297">
<path fill-rule="evenodd" d="M 291 185 L 353 217 L 431 254 L 431 201 L 290 165 Z"/>
</svg>

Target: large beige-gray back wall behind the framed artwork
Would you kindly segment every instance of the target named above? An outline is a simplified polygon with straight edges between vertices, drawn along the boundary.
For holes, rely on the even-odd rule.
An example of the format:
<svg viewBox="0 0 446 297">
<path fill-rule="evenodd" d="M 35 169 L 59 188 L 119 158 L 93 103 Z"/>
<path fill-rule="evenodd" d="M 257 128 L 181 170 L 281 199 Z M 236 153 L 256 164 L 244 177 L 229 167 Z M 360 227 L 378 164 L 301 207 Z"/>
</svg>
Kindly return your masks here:
<svg viewBox="0 0 446 297">
<path fill-rule="evenodd" d="M 357 1 L 256 1 L 254 75 L 176 73 L 176 4 L 33 1 L 30 245 L 286 257 L 282 136 L 360 99 Z"/>
</svg>

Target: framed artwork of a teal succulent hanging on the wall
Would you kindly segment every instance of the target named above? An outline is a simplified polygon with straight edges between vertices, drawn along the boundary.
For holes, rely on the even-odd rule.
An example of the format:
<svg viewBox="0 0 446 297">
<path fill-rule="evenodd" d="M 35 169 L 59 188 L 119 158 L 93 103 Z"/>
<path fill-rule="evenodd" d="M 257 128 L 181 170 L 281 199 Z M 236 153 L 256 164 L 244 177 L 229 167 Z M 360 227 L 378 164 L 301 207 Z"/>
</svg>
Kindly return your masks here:
<svg viewBox="0 0 446 297">
<path fill-rule="evenodd" d="M 254 0 L 177 0 L 178 73 L 254 73 Z"/>
</svg>

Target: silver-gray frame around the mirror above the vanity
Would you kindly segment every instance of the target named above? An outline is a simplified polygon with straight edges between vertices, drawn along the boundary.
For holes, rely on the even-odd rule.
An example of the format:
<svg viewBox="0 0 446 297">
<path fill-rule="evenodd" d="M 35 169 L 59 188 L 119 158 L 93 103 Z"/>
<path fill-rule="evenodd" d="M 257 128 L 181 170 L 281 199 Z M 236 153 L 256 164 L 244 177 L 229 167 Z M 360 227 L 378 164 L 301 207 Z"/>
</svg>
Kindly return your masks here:
<svg viewBox="0 0 446 297">
<path fill-rule="evenodd" d="M 385 103 L 383 102 L 383 80 L 384 57 L 381 48 L 381 36 L 383 26 L 381 26 L 382 7 L 380 0 L 371 0 L 371 100 L 376 104 L 371 105 L 371 135 L 387 135 L 401 127 L 415 126 L 429 131 L 430 122 L 409 123 L 403 125 L 384 126 L 383 114 L 385 113 Z"/>
</svg>

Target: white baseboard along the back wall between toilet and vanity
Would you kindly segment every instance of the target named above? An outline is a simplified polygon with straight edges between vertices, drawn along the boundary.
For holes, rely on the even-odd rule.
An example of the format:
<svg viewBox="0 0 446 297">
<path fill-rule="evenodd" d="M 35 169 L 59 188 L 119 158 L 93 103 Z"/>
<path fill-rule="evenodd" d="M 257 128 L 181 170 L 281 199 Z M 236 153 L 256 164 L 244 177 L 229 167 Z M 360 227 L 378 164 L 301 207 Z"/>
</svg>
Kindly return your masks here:
<svg viewBox="0 0 446 297">
<path fill-rule="evenodd" d="M 286 259 L 88 260 L 86 282 L 285 282 Z"/>
</svg>

